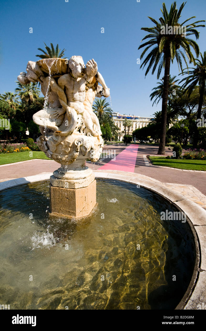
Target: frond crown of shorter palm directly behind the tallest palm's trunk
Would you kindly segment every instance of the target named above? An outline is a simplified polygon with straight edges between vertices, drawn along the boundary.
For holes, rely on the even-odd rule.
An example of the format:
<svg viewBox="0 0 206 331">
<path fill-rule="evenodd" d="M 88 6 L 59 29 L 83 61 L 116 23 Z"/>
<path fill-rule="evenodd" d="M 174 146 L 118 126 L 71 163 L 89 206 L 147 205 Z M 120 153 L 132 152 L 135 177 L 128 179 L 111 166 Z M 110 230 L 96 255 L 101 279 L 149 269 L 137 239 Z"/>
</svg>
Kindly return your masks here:
<svg viewBox="0 0 206 331">
<path fill-rule="evenodd" d="M 172 95 L 173 95 L 173 90 L 175 90 L 175 96 L 177 95 L 178 97 L 181 96 L 181 91 L 180 91 L 180 86 L 176 85 L 175 83 L 178 82 L 178 79 L 176 79 L 176 76 L 172 76 L 170 75 L 169 77 L 169 87 L 168 87 L 168 98 L 172 98 Z M 163 96 L 163 86 L 164 86 L 164 77 L 162 77 L 161 81 L 160 82 L 157 82 L 157 84 L 159 84 L 158 86 L 154 87 L 152 89 L 152 91 L 154 90 L 154 92 L 152 92 L 150 94 L 150 97 L 151 97 L 151 101 L 153 98 L 156 98 L 155 101 L 153 102 L 152 104 L 152 107 L 154 106 L 154 103 L 156 103 L 157 101 L 157 104 L 158 102 L 162 99 L 162 96 Z"/>
</svg>

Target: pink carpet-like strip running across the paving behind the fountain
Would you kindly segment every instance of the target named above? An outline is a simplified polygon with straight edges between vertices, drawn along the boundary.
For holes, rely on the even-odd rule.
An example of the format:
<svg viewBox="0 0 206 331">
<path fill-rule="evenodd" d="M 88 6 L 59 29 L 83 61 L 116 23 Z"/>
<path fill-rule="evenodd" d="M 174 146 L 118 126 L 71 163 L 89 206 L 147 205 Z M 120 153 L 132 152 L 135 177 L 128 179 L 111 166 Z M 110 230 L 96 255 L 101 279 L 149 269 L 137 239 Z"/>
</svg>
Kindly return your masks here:
<svg viewBox="0 0 206 331">
<path fill-rule="evenodd" d="M 111 161 L 99 169 L 134 172 L 138 147 L 139 145 L 129 145 L 116 156 L 115 160 L 111 159 Z"/>
</svg>

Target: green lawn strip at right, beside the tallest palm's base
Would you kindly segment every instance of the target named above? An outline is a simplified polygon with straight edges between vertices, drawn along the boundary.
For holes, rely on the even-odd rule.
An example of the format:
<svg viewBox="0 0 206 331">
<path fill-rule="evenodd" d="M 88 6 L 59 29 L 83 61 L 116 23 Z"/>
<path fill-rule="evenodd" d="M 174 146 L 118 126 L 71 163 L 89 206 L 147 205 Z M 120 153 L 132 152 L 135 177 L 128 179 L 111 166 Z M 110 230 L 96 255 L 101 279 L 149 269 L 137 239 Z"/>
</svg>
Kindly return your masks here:
<svg viewBox="0 0 206 331">
<path fill-rule="evenodd" d="M 172 160 L 159 156 L 150 156 L 149 158 L 154 166 L 168 166 L 178 169 L 206 171 L 206 161 L 204 160 Z"/>
</svg>

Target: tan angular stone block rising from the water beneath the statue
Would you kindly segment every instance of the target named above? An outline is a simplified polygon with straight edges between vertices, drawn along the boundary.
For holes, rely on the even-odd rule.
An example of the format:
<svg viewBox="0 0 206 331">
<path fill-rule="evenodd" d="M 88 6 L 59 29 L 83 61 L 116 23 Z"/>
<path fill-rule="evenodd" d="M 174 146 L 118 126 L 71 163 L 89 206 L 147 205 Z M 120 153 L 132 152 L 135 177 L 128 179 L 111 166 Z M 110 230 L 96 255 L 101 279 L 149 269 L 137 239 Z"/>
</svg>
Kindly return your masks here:
<svg viewBox="0 0 206 331">
<path fill-rule="evenodd" d="M 49 187 L 50 214 L 82 217 L 91 213 L 96 205 L 96 180 L 80 188 Z"/>
</svg>

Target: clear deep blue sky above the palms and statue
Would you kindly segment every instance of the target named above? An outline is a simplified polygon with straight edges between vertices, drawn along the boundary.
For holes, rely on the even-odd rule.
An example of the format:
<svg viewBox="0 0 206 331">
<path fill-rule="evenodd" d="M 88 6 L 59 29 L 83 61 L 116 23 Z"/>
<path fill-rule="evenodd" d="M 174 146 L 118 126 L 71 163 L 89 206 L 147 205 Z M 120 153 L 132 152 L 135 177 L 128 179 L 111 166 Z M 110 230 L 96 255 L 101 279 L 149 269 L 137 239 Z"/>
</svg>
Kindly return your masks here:
<svg viewBox="0 0 206 331">
<path fill-rule="evenodd" d="M 183 1 L 177 1 L 177 8 Z M 168 10 L 172 1 L 165 0 Z M 140 70 L 137 58 L 141 39 L 146 32 L 141 27 L 151 27 L 151 16 L 158 20 L 162 15 L 159 0 L 22 0 L 1 1 L 0 40 L 0 93 L 14 91 L 17 76 L 26 71 L 27 62 L 37 61 L 50 42 L 66 49 L 65 57 L 81 55 L 86 62 L 94 58 L 110 88 L 113 111 L 121 114 L 152 116 L 161 110 L 161 103 L 152 107 L 149 95 L 157 83 L 157 73 Z M 196 16 L 191 22 L 206 19 L 206 1 L 189 0 L 182 22 Z M 29 28 L 33 33 L 29 33 Z M 101 28 L 104 27 L 104 33 Z M 200 51 L 206 50 L 206 27 L 198 29 Z M 161 74 L 161 77 L 163 76 Z M 176 64 L 171 74 L 178 75 Z M 109 101 L 109 98 L 107 99 Z"/>
</svg>

